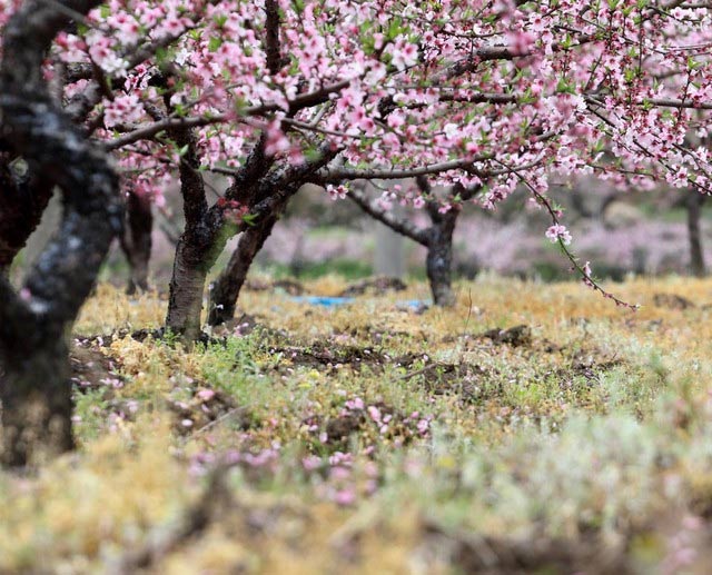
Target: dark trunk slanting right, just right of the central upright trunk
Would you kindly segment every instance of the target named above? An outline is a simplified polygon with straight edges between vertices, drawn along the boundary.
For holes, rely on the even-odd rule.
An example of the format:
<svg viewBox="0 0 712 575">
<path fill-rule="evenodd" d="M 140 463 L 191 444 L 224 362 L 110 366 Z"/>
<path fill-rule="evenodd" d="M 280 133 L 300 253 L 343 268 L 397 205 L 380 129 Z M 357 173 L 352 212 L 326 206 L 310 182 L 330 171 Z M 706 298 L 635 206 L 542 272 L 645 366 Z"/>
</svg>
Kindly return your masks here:
<svg viewBox="0 0 712 575">
<path fill-rule="evenodd" d="M 209 325 L 219 326 L 235 316 L 235 306 L 245 279 L 247 279 L 247 272 L 255 256 L 271 234 L 277 219 L 278 215 L 269 216 L 257 226 L 246 229 L 240 236 L 227 267 L 212 284 L 208 315 Z"/>
</svg>

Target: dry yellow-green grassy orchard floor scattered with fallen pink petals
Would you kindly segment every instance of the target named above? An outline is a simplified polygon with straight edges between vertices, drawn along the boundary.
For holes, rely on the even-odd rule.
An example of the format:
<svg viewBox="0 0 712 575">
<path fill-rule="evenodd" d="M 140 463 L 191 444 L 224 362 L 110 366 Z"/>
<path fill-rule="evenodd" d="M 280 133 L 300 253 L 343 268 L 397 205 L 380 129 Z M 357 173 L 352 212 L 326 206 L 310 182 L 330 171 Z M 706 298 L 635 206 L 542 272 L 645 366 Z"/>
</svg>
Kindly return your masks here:
<svg viewBox="0 0 712 575">
<path fill-rule="evenodd" d="M 79 449 L 0 474 L 0 572 L 709 572 L 712 281 L 251 287 L 186 350 L 99 286 Z"/>
</svg>

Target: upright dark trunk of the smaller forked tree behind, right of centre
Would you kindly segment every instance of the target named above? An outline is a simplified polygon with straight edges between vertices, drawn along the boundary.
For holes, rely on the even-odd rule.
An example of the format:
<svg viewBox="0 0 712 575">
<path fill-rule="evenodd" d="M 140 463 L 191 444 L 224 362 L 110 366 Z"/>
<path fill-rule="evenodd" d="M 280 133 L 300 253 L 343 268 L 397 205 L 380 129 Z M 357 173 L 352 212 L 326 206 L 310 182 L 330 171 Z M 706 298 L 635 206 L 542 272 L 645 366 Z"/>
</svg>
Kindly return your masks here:
<svg viewBox="0 0 712 575">
<path fill-rule="evenodd" d="M 453 294 L 453 232 L 459 216 L 457 207 L 445 214 L 439 214 L 436 204 L 428 204 L 428 214 L 433 221 L 428 229 L 427 257 L 425 269 L 431 284 L 433 303 L 441 307 L 455 305 Z"/>
</svg>

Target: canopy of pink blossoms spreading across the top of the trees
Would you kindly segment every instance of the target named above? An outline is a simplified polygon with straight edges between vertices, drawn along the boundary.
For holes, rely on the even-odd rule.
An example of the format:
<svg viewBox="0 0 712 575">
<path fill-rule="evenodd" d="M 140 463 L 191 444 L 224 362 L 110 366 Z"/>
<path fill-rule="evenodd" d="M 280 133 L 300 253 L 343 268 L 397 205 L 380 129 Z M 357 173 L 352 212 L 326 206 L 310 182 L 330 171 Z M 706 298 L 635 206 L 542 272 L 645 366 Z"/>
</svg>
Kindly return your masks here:
<svg viewBox="0 0 712 575">
<path fill-rule="evenodd" d="M 0 0 L 0 24 L 18 6 Z M 91 65 L 65 99 L 93 102 L 93 137 L 127 188 L 157 201 L 181 165 L 160 122 L 181 118 L 206 170 L 237 169 L 258 146 L 288 166 L 328 147 L 335 157 L 315 179 L 339 199 L 343 180 L 390 175 L 483 185 L 474 201 L 486 208 L 521 187 L 545 200 L 552 177 L 592 172 L 625 188 L 712 190 L 703 6 L 110 0 L 86 24 L 57 38 L 47 77 L 61 77 L 60 62 Z M 159 76 L 164 86 L 149 81 Z M 546 236 L 567 245 L 553 220 Z"/>
</svg>

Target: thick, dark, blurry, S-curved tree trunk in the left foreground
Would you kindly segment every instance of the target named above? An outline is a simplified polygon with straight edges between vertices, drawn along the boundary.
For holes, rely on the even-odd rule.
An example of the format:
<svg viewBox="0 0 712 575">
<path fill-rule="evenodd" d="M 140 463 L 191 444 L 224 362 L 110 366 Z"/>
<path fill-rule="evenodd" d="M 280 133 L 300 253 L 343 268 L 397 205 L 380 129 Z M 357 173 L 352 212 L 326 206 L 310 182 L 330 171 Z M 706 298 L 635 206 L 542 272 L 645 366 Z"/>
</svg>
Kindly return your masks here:
<svg viewBox="0 0 712 575">
<path fill-rule="evenodd" d="M 118 179 L 105 155 L 57 110 L 42 77 L 55 36 L 69 23 L 61 4 L 87 13 L 98 1 L 29 0 L 3 32 L 2 139 L 63 197 L 59 234 L 20 294 L 0 276 L 0 399 L 7 465 L 72 447 L 66 337 L 121 228 Z"/>
</svg>

